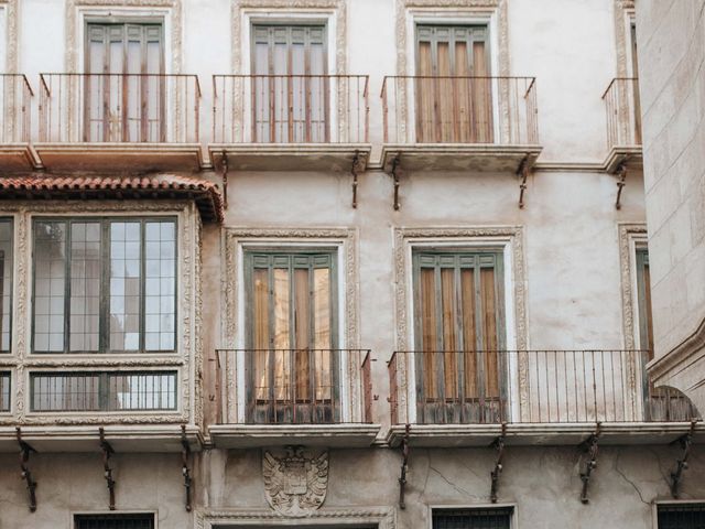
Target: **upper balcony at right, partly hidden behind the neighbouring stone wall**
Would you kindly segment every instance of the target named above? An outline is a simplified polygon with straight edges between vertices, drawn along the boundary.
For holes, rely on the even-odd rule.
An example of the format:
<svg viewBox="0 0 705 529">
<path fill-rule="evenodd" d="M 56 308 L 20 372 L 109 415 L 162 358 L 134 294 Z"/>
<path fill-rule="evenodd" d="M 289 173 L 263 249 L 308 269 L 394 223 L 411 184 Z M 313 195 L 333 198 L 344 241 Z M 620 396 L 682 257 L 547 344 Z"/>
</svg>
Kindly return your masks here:
<svg viewBox="0 0 705 529">
<path fill-rule="evenodd" d="M 607 148 L 605 160 L 607 172 L 615 173 L 620 165 L 641 166 L 641 104 L 639 79 L 617 77 L 611 80 L 605 94 L 607 112 Z"/>
</svg>

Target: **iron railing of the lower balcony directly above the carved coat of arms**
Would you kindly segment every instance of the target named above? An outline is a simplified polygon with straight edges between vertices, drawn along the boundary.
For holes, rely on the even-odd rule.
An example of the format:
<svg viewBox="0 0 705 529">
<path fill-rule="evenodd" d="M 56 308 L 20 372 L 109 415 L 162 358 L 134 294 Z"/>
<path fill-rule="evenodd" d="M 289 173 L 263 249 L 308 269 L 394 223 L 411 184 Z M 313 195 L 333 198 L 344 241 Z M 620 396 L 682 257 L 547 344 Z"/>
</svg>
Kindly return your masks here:
<svg viewBox="0 0 705 529">
<path fill-rule="evenodd" d="M 367 349 L 217 349 L 219 424 L 370 423 Z"/>
</svg>

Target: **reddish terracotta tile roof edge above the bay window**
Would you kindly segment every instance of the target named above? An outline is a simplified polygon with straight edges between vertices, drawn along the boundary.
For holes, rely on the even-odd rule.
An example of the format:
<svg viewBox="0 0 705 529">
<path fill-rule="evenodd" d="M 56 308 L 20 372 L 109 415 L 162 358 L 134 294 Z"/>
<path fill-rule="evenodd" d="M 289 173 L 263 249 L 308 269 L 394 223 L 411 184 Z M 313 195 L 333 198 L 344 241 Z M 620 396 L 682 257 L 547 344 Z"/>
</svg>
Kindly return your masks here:
<svg viewBox="0 0 705 529">
<path fill-rule="evenodd" d="M 158 174 L 152 176 L 58 176 L 31 174 L 0 176 L 2 198 L 192 198 L 205 220 L 223 222 L 224 202 L 218 186 L 204 179 Z M 155 196 L 156 195 L 156 196 Z"/>
</svg>

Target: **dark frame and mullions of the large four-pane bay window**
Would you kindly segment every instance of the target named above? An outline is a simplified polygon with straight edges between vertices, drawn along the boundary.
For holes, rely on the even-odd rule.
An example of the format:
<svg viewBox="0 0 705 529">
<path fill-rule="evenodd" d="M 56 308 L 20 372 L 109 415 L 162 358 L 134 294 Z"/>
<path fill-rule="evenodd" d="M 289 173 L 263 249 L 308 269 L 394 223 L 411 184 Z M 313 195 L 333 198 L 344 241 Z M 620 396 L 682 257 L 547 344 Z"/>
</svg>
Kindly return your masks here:
<svg viewBox="0 0 705 529">
<path fill-rule="evenodd" d="M 112 223 L 140 223 L 140 346 L 137 350 L 110 349 L 110 225 Z M 147 349 L 145 341 L 145 225 L 150 222 L 172 222 L 174 225 L 174 348 L 173 349 Z M 36 298 L 36 262 L 34 248 L 36 245 L 36 223 L 64 223 L 66 226 L 65 238 L 65 280 L 64 280 L 64 348 L 63 350 L 35 350 L 35 298 Z M 100 224 L 100 302 L 99 302 L 99 345 L 98 350 L 70 350 L 70 225 L 72 223 L 99 223 Z M 33 355 L 173 355 L 178 349 L 178 228 L 176 216 L 35 216 L 32 218 L 32 325 L 31 325 L 31 354 Z"/>
</svg>

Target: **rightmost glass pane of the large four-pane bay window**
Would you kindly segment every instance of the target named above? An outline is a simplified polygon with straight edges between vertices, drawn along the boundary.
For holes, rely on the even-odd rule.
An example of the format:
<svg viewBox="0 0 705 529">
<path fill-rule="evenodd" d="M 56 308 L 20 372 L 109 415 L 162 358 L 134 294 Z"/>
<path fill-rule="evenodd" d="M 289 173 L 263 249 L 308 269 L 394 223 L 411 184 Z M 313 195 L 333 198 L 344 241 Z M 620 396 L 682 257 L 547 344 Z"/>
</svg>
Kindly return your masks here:
<svg viewBox="0 0 705 529">
<path fill-rule="evenodd" d="M 144 224 L 144 348 L 174 350 L 176 320 L 176 224 Z"/>
</svg>

